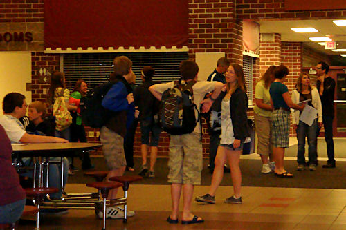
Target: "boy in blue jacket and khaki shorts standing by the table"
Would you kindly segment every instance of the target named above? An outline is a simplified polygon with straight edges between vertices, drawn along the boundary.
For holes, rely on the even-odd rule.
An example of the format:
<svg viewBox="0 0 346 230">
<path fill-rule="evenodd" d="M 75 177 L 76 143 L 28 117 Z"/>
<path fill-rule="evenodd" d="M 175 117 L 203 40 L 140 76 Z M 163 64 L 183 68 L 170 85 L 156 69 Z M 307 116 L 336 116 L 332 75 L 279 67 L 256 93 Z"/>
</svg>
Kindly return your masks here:
<svg viewBox="0 0 346 230">
<path fill-rule="evenodd" d="M 116 82 L 113 84 L 107 95 L 102 100 L 102 106 L 115 113 L 100 128 L 100 140 L 103 144 L 103 155 L 109 168 L 106 180 L 114 176 L 124 174 L 126 167 L 124 153 L 124 137 L 126 129 L 135 118 L 134 95 L 129 85 L 136 81 L 136 76 L 132 72 L 132 61 L 125 56 L 116 57 L 113 60 Z M 136 113 L 138 116 L 138 113 Z M 112 189 L 109 192 L 109 200 L 116 199 L 118 189 Z M 124 218 L 124 209 L 122 207 L 107 207 L 106 218 L 119 219 Z M 98 214 L 102 218 L 102 211 Z M 127 216 L 134 216 L 134 211 L 127 210 Z"/>
</svg>

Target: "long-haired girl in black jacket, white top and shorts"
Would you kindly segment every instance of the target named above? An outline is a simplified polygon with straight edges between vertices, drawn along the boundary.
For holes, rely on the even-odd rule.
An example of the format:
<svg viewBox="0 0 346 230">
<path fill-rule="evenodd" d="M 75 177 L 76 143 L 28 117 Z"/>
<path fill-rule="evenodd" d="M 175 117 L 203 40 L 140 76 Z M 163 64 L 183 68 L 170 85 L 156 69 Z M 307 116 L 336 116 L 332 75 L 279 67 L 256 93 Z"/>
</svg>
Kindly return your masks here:
<svg viewBox="0 0 346 230">
<path fill-rule="evenodd" d="M 232 64 L 226 72 L 226 84 L 217 100 L 221 103 L 221 141 L 217 148 L 212 184 L 206 195 L 197 196 L 196 201 L 215 203 L 215 192 L 224 176 L 224 163 L 228 160 L 233 181 L 234 193 L 225 200 L 230 204 L 242 204 L 240 195 L 242 173 L 239 158 L 244 142 L 250 140 L 248 118 L 248 97 L 242 66 Z"/>
</svg>

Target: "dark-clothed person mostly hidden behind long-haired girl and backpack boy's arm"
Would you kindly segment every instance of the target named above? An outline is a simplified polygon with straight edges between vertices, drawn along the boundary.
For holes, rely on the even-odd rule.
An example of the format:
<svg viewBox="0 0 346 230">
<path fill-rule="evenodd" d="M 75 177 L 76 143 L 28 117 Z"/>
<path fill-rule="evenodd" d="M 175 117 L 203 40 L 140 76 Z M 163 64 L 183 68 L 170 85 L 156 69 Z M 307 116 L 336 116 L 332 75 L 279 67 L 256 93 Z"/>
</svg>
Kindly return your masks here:
<svg viewBox="0 0 346 230">
<path fill-rule="evenodd" d="M 213 82 L 222 82 L 226 83 L 225 73 L 228 70 L 228 66 L 230 66 L 230 60 L 226 57 L 221 57 L 217 60 L 217 68 L 209 75 L 208 81 Z M 210 143 L 209 143 L 209 171 L 212 174 L 215 168 L 215 157 L 217 155 L 217 147 L 220 143 L 220 135 L 221 135 L 221 109 L 217 103 L 212 105 L 212 109 L 210 113 L 207 115 L 207 120 L 209 124 L 209 135 L 210 135 Z M 224 165 L 224 172 L 229 173 L 230 169 Z"/>
</svg>

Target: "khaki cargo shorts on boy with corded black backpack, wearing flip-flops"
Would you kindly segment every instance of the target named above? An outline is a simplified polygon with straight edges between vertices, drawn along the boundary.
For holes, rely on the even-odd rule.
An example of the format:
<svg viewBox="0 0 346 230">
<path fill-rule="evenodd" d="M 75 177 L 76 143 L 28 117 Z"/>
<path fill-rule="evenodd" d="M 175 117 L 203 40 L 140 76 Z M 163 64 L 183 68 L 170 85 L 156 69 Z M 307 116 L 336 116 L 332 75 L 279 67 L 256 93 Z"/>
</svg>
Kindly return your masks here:
<svg viewBox="0 0 346 230">
<path fill-rule="evenodd" d="M 201 184 L 203 149 L 200 137 L 200 133 L 170 135 L 169 183 Z"/>
</svg>

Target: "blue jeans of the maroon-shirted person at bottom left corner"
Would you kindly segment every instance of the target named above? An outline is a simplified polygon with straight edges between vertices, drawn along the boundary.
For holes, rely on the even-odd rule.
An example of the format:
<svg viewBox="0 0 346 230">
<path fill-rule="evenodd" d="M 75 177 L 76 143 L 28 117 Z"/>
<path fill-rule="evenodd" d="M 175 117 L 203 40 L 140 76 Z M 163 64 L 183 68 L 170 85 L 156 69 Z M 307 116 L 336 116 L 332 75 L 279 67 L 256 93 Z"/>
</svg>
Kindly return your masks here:
<svg viewBox="0 0 346 230">
<path fill-rule="evenodd" d="M 19 220 L 24 211 L 26 199 L 0 206 L 0 224 L 12 224 Z"/>
</svg>

